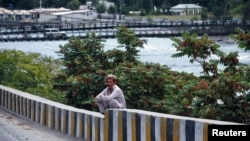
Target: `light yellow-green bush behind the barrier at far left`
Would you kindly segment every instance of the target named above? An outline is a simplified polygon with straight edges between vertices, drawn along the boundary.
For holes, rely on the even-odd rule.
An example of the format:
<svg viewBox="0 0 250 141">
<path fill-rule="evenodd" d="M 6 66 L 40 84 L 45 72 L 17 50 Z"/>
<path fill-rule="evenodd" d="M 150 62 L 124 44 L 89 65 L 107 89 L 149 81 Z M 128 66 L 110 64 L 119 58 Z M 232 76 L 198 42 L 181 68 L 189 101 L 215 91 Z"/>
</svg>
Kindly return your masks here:
<svg viewBox="0 0 250 141">
<path fill-rule="evenodd" d="M 51 82 L 59 66 L 60 62 L 38 53 L 1 50 L 0 84 L 63 103 L 64 95 L 53 90 Z"/>
</svg>

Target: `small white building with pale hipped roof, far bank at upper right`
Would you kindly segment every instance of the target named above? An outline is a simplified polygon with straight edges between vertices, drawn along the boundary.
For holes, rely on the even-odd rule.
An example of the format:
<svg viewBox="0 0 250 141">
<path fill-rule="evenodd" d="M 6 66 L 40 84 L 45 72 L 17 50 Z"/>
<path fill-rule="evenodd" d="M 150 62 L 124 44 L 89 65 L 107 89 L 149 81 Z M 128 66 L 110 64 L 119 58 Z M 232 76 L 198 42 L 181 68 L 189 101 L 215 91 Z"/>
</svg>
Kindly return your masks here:
<svg viewBox="0 0 250 141">
<path fill-rule="evenodd" d="M 170 8 L 172 15 L 198 15 L 202 7 L 197 4 L 178 4 Z"/>
</svg>

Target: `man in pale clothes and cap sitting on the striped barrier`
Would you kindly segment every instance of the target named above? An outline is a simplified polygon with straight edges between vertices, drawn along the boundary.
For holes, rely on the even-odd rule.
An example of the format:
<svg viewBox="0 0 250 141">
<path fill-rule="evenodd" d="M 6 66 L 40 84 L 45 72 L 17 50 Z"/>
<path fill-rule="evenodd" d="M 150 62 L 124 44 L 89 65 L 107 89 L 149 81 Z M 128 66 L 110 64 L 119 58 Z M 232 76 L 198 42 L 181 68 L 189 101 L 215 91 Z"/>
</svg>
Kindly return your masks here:
<svg viewBox="0 0 250 141">
<path fill-rule="evenodd" d="M 107 87 L 95 97 L 99 111 L 104 114 L 106 109 L 126 108 L 122 90 L 116 85 L 117 78 L 110 74 L 105 78 Z"/>
</svg>

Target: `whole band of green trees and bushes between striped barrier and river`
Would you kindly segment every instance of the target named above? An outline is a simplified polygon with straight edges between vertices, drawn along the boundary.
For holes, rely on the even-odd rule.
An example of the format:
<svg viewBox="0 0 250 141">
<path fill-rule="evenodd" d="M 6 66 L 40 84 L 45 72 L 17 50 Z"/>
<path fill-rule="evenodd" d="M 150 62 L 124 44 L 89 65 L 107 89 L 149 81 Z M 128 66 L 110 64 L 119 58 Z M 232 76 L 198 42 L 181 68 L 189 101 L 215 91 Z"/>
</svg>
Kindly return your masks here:
<svg viewBox="0 0 250 141">
<path fill-rule="evenodd" d="M 231 37 L 248 50 L 249 33 L 238 30 Z M 165 65 L 140 62 L 138 48 L 146 40 L 132 30 L 121 26 L 116 37 L 118 48 L 124 50 L 104 51 L 104 40 L 95 33 L 85 39 L 72 37 L 60 46 L 62 62 L 36 53 L 1 51 L 0 83 L 60 102 L 65 102 L 66 95 L 69 105 L 97 110 L 93 99 L 106 87 L 104 77 L 113 73 L 128 108 L 234 122 L 250 118 L 250 66 L 239 63 L 237 52 L 220 51 L 206 34 L 171 38 L 177 50 L 172 57 L 188 56 L 191 63 L 200 63 L 203 75 L 195 77 Z"/>
</svg>

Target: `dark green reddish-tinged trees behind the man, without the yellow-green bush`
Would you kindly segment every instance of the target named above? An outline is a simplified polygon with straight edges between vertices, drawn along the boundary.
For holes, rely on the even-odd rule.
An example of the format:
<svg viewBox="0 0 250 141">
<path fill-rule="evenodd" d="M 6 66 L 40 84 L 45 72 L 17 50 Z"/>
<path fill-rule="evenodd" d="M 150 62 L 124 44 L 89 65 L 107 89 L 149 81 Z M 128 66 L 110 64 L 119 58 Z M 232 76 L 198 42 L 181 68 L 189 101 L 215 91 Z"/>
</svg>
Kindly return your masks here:
<svg viewBox="0 0 250 141">
<path fill-rule="evenodd" d="M 235 122 L 249 118 L 250 68 L 239 63 L 237 52 L 225 54 L 207 35 L 184 33 L 182 38 L 171 38 L 177 49 L 173 57 L 188 56 L 191 63 L 201 64 L 204 76 L 197 78 L 138 61 L 137 48 L 146 41 L 126 27 L 118 28 L 116 37 L 118 48 L 125 51 L 103 51 L 102 40 L 94 33 L 61 46 L 66 68 L 57 86 L 66 91 L 68 104 L 96 110 L 93 98 L 105 87 L 104 77 L 113 73 L 128 108 Z M 212 55 L 218 59 L 210 59 Z M 218 64 L 224 69 L 219 70 Z"/>
</svg>

